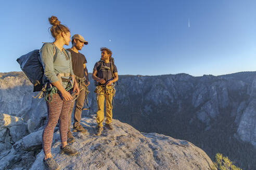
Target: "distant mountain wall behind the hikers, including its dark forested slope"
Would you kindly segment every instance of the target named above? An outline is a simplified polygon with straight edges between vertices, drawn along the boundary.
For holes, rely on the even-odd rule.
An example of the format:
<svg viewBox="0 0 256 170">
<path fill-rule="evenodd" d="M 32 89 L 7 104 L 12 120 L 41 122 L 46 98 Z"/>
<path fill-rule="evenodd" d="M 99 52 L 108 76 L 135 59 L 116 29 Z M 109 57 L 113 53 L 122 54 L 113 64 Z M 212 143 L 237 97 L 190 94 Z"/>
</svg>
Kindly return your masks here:
<svg viewBox="0 0 256 170">
<path fill-rule="evenodd" d="M 90 76 L 91 77 L 91 76 Z M 252 166 L 256 151 L 255 96 L 256 73 L 244 72 L 223 76 L 187 74 L 162 76 L 120 76 L 114 98 L 113 118 L 142 132 L 156 132 L 192 141 L 211 158 L 223 152 L 240 166 Z M 22 73 L 0 76 L 0 107 L 7 114 L 22 117 L 29 132 L 44 124 L 46 105 L 31 96 L 32 86 Z M 89 86 L 88 102 L 97 110 L 94 83 Z M 222 141 L 223 140 L 223 141 Z M 241 152 L 249 150 L 250 159 Z M 241 153 L 240 153 L 241 154 Z M 244 161 L 244 162 L 243 162 Z M 253 163 L 252 163 L 253 164 Z"/>
</svg>

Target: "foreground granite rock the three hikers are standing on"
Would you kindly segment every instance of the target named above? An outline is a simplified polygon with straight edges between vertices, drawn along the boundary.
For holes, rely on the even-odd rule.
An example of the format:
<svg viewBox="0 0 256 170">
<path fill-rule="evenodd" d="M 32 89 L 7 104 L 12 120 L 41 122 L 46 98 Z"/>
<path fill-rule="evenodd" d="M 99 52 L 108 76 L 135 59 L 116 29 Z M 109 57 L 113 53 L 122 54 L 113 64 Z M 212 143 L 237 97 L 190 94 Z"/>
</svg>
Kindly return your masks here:
<svg viewBox="0 0 256 170">
<path fill-rule="evenodd" d="M 81 124 L 87 127 L 89 133 L 73 133 L 75 142 L 71 145 L 79 150 L 74 157 L 60 154 L 59 131 L 54 134 L 52 153 L 61 169 L 183 170 L 210 169 L 213 164 L 204 151 L 186 140 L 157 133 L 140 133 L 118 120 L 112 122 L 114 130 L 104 129 L 103 134 L 96 136 L 96 117 L 84 117 Z M 9 126 L 15 125 L 12 123 Z M 0 167 L 45 169 L 41 136 L 42 130 L 39 130 L 17 141 L 0 158 Z"/>
</svg>

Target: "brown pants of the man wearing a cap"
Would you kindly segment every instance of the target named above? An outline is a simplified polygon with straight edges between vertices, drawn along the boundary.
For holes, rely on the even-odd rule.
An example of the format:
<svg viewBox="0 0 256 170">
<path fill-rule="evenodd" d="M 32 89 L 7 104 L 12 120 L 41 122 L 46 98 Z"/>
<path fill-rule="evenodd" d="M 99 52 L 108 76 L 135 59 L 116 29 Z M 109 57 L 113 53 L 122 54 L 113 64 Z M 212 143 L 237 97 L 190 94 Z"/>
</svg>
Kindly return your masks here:
<svg viewBox="0 0 256 170">
<path fill-rule="evenodd" d="M 83 89 L 82 89 L 83 87 Z M 76 98 L 76 100 L 74 102 L 72 102 L 70 110 L 69 110 L 69 131 L 70 131 L 70 126 L 71 126 L 71 117 L 72 117 L 72 112 L 73 112 L 73 108 L 75 105 L 75 110 L 74 110 L 74 123 L 73 126 L 78 126 L 80 125 L 80 120 L 81 120 L 81 115 L 82 115 L 82 111 L 83 111 L 83 106 L 84 106 L 84 100 L 85 100 L 85 87 L 82 85 L 79 87 L 79 89 L 81 90 L 79 93 L 78 98 Z M 86 105 L 86 104 L 85 104 Z"/>
</svg>

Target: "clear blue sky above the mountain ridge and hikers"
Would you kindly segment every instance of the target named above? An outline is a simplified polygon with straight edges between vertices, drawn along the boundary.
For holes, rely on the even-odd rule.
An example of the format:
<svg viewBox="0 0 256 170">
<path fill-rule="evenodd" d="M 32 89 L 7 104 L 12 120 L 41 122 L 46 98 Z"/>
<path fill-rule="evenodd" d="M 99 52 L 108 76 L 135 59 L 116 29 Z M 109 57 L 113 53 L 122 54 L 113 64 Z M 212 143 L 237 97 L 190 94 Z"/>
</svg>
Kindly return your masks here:
<svg viewBox="0 0 256 170">
<path fill-rule="evenodd" d="M 52 15 L 88 41 L 81 53 L 90 73 L 100 47 L 112 50 L 119 75 L 255 71 L 255 7 L 254 0 L 1 1 L 0 72 L 20 71 L 19 56 L 54 41 Z"/>
</svg>

